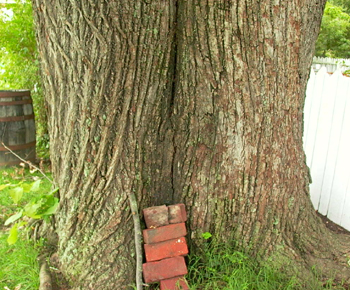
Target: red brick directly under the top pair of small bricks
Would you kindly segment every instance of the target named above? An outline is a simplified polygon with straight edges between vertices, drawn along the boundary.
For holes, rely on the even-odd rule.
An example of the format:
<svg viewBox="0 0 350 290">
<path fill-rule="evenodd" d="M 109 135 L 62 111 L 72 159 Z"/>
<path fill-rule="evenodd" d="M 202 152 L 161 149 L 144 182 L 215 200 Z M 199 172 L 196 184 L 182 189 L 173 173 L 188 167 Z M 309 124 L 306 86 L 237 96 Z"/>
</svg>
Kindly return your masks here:
<svg viewBox="0 0 350 290">
<path fill-rule="evenodd" d="M 143 240 L 145 244 L 159 243 L 166 240 L 181 238 L 186 235 L 187 231 L 185 223 L 143 230 Z"/>
</svg>

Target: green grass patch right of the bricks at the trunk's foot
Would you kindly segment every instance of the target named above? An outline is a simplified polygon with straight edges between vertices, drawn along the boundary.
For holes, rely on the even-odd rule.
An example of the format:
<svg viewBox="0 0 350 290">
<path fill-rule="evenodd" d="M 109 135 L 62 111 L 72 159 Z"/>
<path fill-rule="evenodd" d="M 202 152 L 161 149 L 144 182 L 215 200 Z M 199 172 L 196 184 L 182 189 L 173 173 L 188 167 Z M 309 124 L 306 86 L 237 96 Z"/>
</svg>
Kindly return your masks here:
<svg viewBox="0 0 350 290">
<path fill-rule="evenodd" d="M 295 277 L 268 266 L 259 266 L 256 260 L 227 245 L 211 247 L 201 257 L 190 255 L 188 275 L 190 289 L 201 290 L 346 290 L 333 280 L 321 283 L 315 276 L 307 285 Z M 324 284 L 324 285 L 322 285 Z"/>
</svg>

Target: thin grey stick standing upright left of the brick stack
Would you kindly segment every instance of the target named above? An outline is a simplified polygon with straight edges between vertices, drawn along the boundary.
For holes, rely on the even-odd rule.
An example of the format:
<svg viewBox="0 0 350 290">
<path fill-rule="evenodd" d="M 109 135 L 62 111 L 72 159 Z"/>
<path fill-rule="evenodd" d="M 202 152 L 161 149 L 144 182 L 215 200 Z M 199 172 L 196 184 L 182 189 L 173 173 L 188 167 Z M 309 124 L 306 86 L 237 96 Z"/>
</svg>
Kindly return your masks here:
<svg viewBox="0 0 350 290">
<path fill-rule="evenodd" d="M 135 249 L 136 249 L 136 289 L 143 289 L 142 281 L 142 234 L 141 223 L 137 208 L 137 201 L 134 193 L 129 194 L 130 209 L 134 221 Z"/>
</svg>

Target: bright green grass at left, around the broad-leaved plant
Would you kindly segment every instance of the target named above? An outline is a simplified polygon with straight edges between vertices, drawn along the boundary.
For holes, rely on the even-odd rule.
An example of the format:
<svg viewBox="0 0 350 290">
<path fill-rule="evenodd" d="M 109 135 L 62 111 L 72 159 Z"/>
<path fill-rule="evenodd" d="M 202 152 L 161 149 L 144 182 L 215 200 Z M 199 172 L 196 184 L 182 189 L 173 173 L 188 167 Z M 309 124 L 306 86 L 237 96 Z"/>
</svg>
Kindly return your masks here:
<svg viewBox="0 0 350 290">
<path fill-rule="evenodd" d="M 40 190 L 49 192 L 51 184 L 40 173 L 31 173 L 24 168 L 1 168 L 1 184 L 18 184 L 20 182 L 32 183 L 42 179 Z M 30 201 L 36 193 L 25 193 L 20 203 Z M 13 203 L 9 188 L 0 191 L 0 289 L 36 290 L 39 288 L 39 264 L 37 257 L 43 242 L 33 243 L 21 234 L 18 241 L 9 245 L 7 243 L 9 227 L 4 222 L 16 212 L 19 205 Z"/>
</svg>

